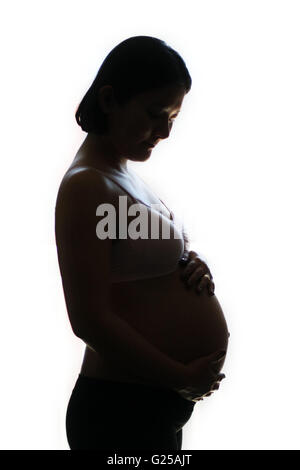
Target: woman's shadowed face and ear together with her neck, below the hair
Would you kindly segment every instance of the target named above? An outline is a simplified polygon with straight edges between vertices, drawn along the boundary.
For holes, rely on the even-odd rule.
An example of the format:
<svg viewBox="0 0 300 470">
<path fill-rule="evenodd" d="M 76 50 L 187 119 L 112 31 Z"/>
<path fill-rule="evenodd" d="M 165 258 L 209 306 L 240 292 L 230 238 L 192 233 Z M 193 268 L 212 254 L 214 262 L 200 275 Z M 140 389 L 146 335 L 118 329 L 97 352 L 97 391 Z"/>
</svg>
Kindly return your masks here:
<svg viewBox="0 0 300 470">
<path fill-rule="evenodd" d="M 151 150 L 169 137 L 185 94 L 183 87 L 169 85 L 140 93 L 124 106 L 119 106 L 113 88 L 103 86 L 99 90 L 98 101 L 107 115 L 109 130 L 101 135 L 89 133 L 79 154 L 84 154 L 88 164 L 96 168 L 114 168 L 127 173 L 128 160 L 146 161 L 151 152 L 145 150 Z M 154 109 L 155 115 L 152 113 Z"/>
</svg>

